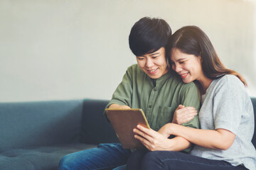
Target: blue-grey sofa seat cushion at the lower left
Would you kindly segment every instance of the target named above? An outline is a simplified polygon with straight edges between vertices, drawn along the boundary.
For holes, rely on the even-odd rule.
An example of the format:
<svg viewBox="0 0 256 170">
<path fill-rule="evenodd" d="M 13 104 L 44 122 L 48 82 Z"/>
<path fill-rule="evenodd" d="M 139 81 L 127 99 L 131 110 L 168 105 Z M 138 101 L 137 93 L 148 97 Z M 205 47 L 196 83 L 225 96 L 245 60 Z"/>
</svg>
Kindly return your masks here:
<svg viewBox="0 0 256 170">
<path fill-rule="evenodd" d="M 73 143 L 53 147 L 11 149 L 0 154 L 0 169 L 56 170 L 58 168 L 60 159 L 66 154 L 78 152 L 80 150 L 89 149 L 92 147 L 96 147 L 96 145 Z"/>
</svg>

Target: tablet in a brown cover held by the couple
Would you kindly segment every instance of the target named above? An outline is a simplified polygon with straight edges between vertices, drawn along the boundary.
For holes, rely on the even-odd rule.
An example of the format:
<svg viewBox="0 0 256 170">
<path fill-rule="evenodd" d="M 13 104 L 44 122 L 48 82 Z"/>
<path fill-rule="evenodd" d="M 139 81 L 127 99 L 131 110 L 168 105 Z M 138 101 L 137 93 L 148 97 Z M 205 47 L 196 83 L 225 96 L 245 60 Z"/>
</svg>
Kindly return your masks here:
<svg viewBox="0 0 256 170">
<path fill-rule="evenodd" d="M 149 128 L 149 123 L 147 122 L 142 109 L 106 108 L 105 113 L 124 149 L 144 148 L 142 142 L 134 138 L 135 134 L 132 131 L 137 125 Z"/>
</svg>

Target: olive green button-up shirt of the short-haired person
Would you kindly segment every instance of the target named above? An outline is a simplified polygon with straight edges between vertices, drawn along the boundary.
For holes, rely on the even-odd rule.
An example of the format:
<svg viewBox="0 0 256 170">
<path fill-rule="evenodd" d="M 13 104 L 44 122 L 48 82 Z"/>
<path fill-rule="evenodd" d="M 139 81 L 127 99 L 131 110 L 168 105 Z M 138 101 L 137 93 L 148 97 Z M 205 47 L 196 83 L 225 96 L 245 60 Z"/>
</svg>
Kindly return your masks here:
<svg viewBox="0 0 256 170">
<path fill-rule="evenodd" d="M 200 97 L 193 82 L 184 84 L 174 72 L 151 79 L 134 64 L 127 69 L 107 108 L 114 103 L 142 108 L 150 128 L 157 131 L 166 123 L 171 123 L 179 104 L 199 111 Z M 198 116 L 183 125 L 199 128 Z"/>
</svg>

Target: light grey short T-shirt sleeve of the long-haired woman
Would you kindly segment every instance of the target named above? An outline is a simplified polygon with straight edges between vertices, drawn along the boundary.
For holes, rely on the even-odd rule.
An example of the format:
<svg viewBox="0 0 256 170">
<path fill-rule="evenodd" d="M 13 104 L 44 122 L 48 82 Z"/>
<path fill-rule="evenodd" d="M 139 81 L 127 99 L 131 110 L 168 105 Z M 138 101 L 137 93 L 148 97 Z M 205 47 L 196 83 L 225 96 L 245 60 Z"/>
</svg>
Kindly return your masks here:
<svg viewBox="0 0 256 170">
<path fill-rule="evenodd" d="M 225 129 L 236 134 L 243 113 L 245 87 L 236 77 L 223 77 L 213 99 L 215 130 Z"/>
</svg>

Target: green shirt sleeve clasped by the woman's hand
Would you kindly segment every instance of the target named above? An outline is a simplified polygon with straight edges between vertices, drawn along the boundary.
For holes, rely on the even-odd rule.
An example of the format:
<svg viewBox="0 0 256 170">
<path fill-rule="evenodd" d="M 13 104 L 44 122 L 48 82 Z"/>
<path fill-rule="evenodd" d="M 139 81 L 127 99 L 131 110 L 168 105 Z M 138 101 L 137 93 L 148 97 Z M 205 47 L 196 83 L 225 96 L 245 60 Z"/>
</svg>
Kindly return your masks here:
<svg viewBox="0 0 256 170">
<path fill-rule="evenodd" d="M 200 109 L 200 95 L 198 93 L 198 89 L 196 84 L 191 82 L 190 84 L 184 84 L 181 89 L 181 102 L 183 106 L 186 107 L 194 107 L 196 111 L 199 113 Z M 191 128 L 200 128 L 198 115 L 196 115 L 192 120 L 189 120 L 186 123 L 182 124 L 183 126 L 191 127 Z"/>
</svg>

